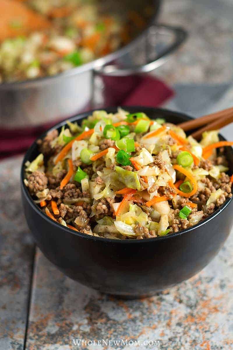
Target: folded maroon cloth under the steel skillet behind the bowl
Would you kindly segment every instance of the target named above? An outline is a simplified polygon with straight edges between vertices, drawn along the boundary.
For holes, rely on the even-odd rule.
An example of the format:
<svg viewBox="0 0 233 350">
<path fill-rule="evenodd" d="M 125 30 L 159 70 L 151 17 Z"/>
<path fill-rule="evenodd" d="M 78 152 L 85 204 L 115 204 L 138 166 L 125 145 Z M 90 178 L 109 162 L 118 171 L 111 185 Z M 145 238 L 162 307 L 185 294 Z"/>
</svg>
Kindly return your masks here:
<svg viewBox="0 0 233 350">
<path fill-rule="evenodd" d="M 165 83 L 151 76 L 105 76 L 103 82 L 106 103 L 102 108 L 133 105 L 157 107 L 174 94 Z M 40 134 L 57 122 L 27 128 L 0 128 L 0 159 L 25 152 Z"/>
</svg>

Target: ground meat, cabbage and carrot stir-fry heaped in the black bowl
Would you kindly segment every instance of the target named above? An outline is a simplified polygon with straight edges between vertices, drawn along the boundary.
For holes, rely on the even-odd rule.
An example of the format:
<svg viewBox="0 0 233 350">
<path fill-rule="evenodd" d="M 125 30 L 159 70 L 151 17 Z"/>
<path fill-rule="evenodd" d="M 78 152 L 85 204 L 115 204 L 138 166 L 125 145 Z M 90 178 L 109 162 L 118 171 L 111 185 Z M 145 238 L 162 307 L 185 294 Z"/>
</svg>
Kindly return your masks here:
<svg viewBox="0 0 233 350">
<path fill-rule="evenodd" d="M 190 228 L 232 197 L 218 131 L 197 142 L 143 112 L 94 111 L 37 141 L 24 183 L 51 219 L 87 235 L 146 239 Z M 217 154 L 217 148 L 219 153 Z"/>
</svg>

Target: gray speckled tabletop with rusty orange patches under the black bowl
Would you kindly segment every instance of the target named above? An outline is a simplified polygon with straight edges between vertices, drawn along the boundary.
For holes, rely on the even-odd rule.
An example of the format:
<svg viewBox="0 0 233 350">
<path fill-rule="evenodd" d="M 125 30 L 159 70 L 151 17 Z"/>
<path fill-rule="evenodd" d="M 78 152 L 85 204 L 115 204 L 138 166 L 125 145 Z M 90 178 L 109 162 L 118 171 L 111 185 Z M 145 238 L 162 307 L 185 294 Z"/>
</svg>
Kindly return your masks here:
<svg viewBox="0 0 233 350">
<path fill-rule="evenodd" d="M 160 22 L 190 32 L 153 72 L 176 91 L 167 107 L 198 116 L 232 105 L 232 13 L 232 0 L 165 0 Z M 232 131 L 228 126 L 223 134 Z M 35 250 L 20 202 L 21 161 L 0 162 L 1 350 L 233 349 L 232 235 L 203 271 L 176 287 L 143 300 L 99 294 Z M 72 339 L 90 342 L 78 346 Z M 131 342 L 93 343 L 101 339 Z"/>
</svg>

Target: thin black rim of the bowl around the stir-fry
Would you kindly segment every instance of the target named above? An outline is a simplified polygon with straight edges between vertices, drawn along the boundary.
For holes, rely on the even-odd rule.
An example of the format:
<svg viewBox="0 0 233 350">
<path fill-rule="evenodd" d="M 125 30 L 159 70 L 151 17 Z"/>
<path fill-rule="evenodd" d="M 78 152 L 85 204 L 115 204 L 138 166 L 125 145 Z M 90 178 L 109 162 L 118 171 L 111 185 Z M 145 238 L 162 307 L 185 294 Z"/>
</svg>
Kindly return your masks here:
<svg viewBox="0 0 233 350">
<path fill-rule="evenodd" d="M 122 109 L 129 109 L 132 110 L 132 113 L 136 113 L 136 111 L 138 110 L 143 110 L 143 111 L 153 111 L 155 113 L 161 113 L 163 114 L 168 113 L 174 116 L 178 116 L 183 118 L 184 120 L 190 120 L 193 119 L 193 117 L 189 116 L 188 114 L 185 113 L 180 113 L 180 112 L 176 112 L 176 111 L 171 111 L 171 110 L 167 110 L 167 109 L 162 109 L 162 108 L 155 108 L 155 107 L 144 107 L 144 106 L 121 106 Z M 205 226 L 209 221 L 211 221 L 212 219 L 214 219 L 215 217 L 217 217 L 229 204 L 230 202 L 233 200 L 233 196 L 231 198 L 227 198 L 227 200 L 216 210 L 213 212 L 213 214 L 211 214 L 210 216 L 208 216 L 207 218 L 205 218 L 204 220 L 200 221 L 199 223 L 197 223 L 196 225 L 192 226 L 191 228 L 188 229 L 184 229 L 178 232 L 173 232 L 170 233 L 169 235 L 166 236 L 159 236 L 159 237 L 154 237 L 154 238 L 150 238 L 150 239 L 112 239 L 112 238 L 105 238 L 105 237 L 97 237 L 97 236 L 90 236 L 87 235 L 85 233 L 81 233 L 79 231 L 74 231 L 66 226 L 61 225 L 60 223 L 52 220 L 50 217 L 48 217 L 48 215 L 44 214 L 42 212 L 42 210 L 38 207 L 38 205 L 36 203 L 34 203 L 34 201 L 32 200 L 31 195 L 29 194 L 28 189 L 26 188 L 26 185 L 24 184 L 24 164 L 26 163 L 26 161 L 28 160 L 32 149 L 34 147 L 37 147 L 36 142 L 37 140 L 43 138 L 49 131 L 53 130 L 53 129 L 58 129 L 59 127 L 66 125 L 66 121 L 70 120 L 70 121 L 78 121 L 81 120 L 83 118 L 86 118 L 89 114 L 91 114 L 93 111 L 97 111 L 97 110 L 103 110 L 103 109 L 93 109 L 93 110 L 89 110 L 87 112 L 82 112 L 77 114 L 76 116 L 70 117 L 66 120 L 60 121 L 59 123 L 55 124 L 53 127 L 49 128 L 48 130 L 44 131 L 33 143 L 32 145 L 28 148 L 26 154 L 24 155 L 22 164 L 21 164 L 21 171 L 20 171 L 20 185 L 21 185 L 21 189 L 23 192 L 24 197 L 26 198 L 26 200 L 28 201 L 28 203 L 30 204 L 30 206 L 32 207 L 32 209 L 34 209 L 36 211 L 37 214 L 39 214 L 39 216 L 41 216 L 41 218 L 45 219 L 48 223 L 52 224 L 54 226 L 54 228 L 58 228 L 58 229 L 62 229 L 65 232 L 68 233 L 72 233 L 75 236 L 79 236 L 80 238 L 86 238 L 86 239 L 90 239 L 90 240 L 94 240 L 94 241 L 102 241 L 102 242 L 111 242 L 111 243 L 116 243 L 116 244 L 139 244 L 139 243 L 150 243 L 150 242 L 155 242 L 155 241 L 160 241 L 160 240 L 167 240 L 169 238 L 175 238 L 178 236 L 181 236 L 185 233 L 188 233 L 192 230 L 195 230 L 201 226 Z M 117 107 L 106 107 L 104 108 L 105 111 L 107 111 L 108 113 L 112 113 L 114 111 L 117 110 Z M 221 140 L 226 140 L 221 134 L 219 134 Z M 233 153 L 233 149 L 231 151 Z"/>
</svg>

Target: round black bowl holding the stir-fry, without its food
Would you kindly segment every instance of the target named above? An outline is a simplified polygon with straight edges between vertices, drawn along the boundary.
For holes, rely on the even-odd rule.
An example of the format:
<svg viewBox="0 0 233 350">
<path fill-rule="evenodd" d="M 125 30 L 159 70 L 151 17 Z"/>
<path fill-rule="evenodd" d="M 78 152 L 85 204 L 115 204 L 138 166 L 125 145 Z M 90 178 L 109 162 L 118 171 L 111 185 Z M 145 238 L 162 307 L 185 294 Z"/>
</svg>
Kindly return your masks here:
<svg viewBox="0 0 233 350">
<path fill-rule="evenodd" d="M 175 124 L 191 119 L 162 109 L 127 107 L 127 110 L 131 113 L 144 111 L 150 118 L 164 117 Z M 108 108 L 107 111 L 115 112 L 116 108 Z M 81 121 L 88 114 L 82 113 L 70 120 Z M 57 124 L 56 128 L 64 124 Z M 34 142 L 24 157 L 21 169 L 23 208 L 36 244 L 67 276 L 100 292 L 140 297 L 172 287 L 201 271 L 218 253 L 230 233 L 232 198 L 192 228 L 164 237 L 113 240 L 65 228 L 43 214 L 23 183 L 24 163 L 32 161 L 37 155 Z M 226 156 L 232 174 L 231 147 L 227 147 Z"/>
</svg>

